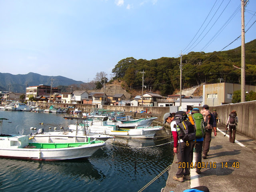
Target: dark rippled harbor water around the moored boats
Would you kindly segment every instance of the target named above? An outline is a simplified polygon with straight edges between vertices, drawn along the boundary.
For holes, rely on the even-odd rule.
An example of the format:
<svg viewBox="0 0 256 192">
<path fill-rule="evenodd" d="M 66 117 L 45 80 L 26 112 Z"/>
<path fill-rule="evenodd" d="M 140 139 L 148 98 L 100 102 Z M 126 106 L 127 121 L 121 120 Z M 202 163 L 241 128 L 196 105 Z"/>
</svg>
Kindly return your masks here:
<svg viewBox="0 0 256 192">
<path fill-rule="evenodd" d="M 2 134 L 23 134 L 44 128 L 45 132 L 68 129 L 75 120 L 66 114 L 0 111 Z M 42 124 L 43 123 L 43 124 Z M 34 127 L 37 130 L 31 130 Z M 49 129 L 51 127 L 51 129 Z M 0 191 L 86 191 L 136 192 L 146 186 L 173 161 L 172 144 L 166 136 L 154 139 L 107 140 L 107 144 L 88 159 L 40 162 L 0 158 Z M 144 192 L 159 191 L 166 185 L 168 172 Z"/>
</svg>

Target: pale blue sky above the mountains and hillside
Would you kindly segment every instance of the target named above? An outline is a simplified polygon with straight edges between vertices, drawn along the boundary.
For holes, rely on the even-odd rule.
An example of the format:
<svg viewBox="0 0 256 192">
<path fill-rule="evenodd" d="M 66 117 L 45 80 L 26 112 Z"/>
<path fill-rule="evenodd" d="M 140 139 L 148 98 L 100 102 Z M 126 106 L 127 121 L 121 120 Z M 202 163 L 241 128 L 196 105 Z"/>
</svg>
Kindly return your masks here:
<svg viewBox="0 0 256 192">
<path fill-rule="evenodd" d="M 246 43 L 255 21 L 250 0 Z M 240 35 L 240 0 L 0 0 L 0 72 L 110 79 L 124 58 L 230 50 Z"/>
</svg>

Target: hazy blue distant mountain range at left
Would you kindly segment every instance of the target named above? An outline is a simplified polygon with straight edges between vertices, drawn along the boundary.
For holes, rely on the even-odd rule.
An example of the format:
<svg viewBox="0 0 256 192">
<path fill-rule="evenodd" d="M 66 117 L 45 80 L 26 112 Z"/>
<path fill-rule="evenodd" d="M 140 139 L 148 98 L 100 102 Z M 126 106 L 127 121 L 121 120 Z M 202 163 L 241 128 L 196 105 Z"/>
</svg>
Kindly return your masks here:
<svg viewBox="0 0 256 192">
<path fill-rule="evenodd" d="M 51 85 L 51 78 L 54 80 L 52 81 L 52 86 L 69 86 L 72 84 L 83 84 L 82 81 L 75 81 L 70 78 L 66 78 L 63 76 L 45 76 L 40 75 L 37 73 L 28 73 L 28 74 L 18 74 L 13 75 L 10 73 L 0 73 L 0 91 L 10 91 L 17 92 L 17 93 L 25 93 L 26 92 L 26 84 L 27 86 L 38 86 L 41 84 L 44 85 Z"/>
</svg>

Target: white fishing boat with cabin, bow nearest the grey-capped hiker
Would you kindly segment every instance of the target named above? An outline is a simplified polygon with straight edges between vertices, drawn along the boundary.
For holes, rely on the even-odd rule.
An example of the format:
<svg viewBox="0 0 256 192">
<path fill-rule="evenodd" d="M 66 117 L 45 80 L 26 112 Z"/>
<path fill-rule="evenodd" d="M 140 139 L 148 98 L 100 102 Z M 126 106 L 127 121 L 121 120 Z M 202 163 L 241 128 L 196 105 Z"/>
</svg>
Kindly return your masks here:
<svg viewBox="0 0 256 192">
<path fill-rule="evenodd" d="M 94 116 L 88 127 L 91 133 L 108 134 L 116 137 L 126 138 L 154 138 L 156 132 L 162 126 L 135 126 L 134 128 L 121 128 L 116 125 L 108 125 L 108 116 Z"/>
</svg>

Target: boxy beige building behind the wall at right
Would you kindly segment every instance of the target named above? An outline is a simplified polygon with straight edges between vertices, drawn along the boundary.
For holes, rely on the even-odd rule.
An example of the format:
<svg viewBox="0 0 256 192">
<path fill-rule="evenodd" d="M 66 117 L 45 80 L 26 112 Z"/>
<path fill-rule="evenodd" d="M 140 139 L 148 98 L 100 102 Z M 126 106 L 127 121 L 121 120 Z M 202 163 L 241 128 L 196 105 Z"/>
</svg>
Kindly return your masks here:
<svg viewBox="0 0 256 192">
<path fill-rule="evenodd" d="M 232 103 L 233 92 L 241 90 L 240 84 L 233 83 L 214 83 L 203 85 L 203 104 L 217 106 Z M 256 92 L 256 86 L 246 85 L 245 91 Z"/>
</svg>

